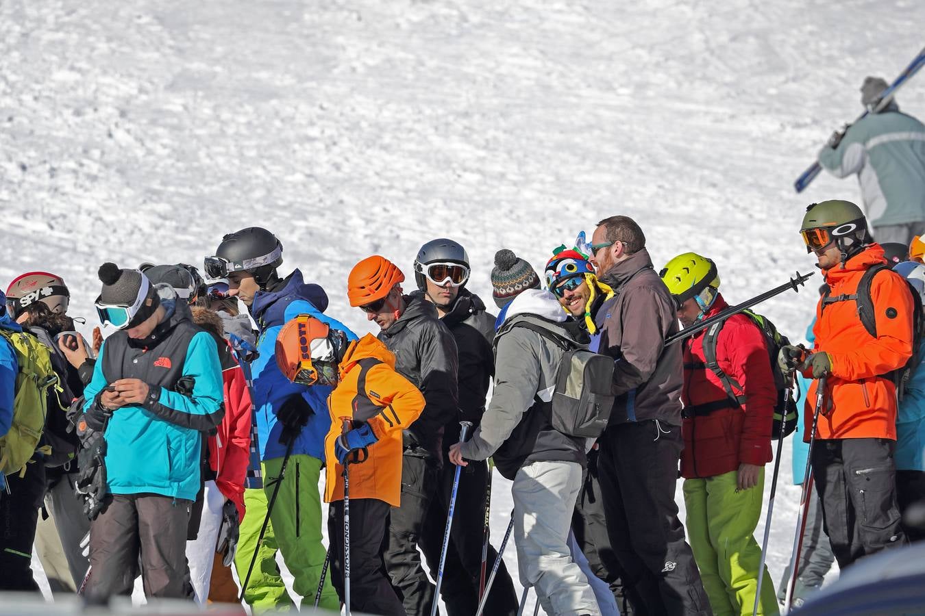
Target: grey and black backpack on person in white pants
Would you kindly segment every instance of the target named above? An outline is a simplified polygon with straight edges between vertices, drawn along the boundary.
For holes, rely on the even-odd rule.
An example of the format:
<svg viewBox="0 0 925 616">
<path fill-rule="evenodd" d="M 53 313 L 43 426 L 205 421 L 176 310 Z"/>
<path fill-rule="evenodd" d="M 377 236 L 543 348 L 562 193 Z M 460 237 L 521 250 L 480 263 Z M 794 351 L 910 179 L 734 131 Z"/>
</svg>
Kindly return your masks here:
<svg viewBox="0 0 925 616">
<path fill-rule="evenodd" d="M 564 351 L 552 393 L 552 428 L 566 436 L 597 439 L 607 428 L 616 400 L 611 391 L 613 359 L 537 323 L 519 321 L 513 327 L 536 332 Z"/>
</svg>

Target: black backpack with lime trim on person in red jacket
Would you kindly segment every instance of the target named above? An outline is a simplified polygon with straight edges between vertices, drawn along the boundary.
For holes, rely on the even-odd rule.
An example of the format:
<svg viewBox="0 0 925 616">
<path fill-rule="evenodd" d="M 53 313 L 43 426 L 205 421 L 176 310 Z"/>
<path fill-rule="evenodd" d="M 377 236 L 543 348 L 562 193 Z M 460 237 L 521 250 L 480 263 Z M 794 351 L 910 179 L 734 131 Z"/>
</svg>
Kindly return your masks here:
<svg viewBox="0 0 925 616">
<path fill-rule="evenodd" d="M 790 341 L 783 333 L 778 332 L 777 327 L 766 317 L 762 317 L 751 310 L 743 310 L 742 314 L 758 326 L 758 329 L 764 336 L 764 346 L 768 349 L 768 357 L 771 362 L 771 375 L 774 378 L 774 390 L 777 392 L 777 404 L 774 405 L 773 422 L 771 424 L 771 437 L 780 438 L 782 425 L 783 436 L 790 436 L 796 429 L 796 396 L 788 395 L 789 390 L 791 390 L 791 385 L 789 383 L 792 382 L 792 380 L 781 371 L 781 367 L 777 364 L 777 355 L 781 347 L 785 344 L 790 344 Z M 741 406 L 746 403 L 746 395 L 736 392 L 742 392 L 742 385 L 720 368 L 720 363 L 716 357 L 717 340 L 722 331 L 722 325 L 725 322 L 725 320 L 721 320 L 712 327 L 709 327 L 707 333 L 704 334 L 704 364 L 720 380 L 722 389 L 726 391 L 726 395 L 729 396 L 734 405 Z"/>
</svg>

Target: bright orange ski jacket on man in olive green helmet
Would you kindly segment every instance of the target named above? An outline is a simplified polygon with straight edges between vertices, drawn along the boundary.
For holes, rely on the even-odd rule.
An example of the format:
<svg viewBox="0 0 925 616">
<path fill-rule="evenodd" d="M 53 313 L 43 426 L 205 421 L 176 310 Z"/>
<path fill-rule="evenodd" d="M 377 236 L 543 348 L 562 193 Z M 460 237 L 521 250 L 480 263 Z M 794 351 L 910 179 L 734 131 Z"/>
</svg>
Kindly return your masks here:
<svg viewBox="0 0 925 616">
<path fill-rule="evenodd" d="M 870 284 L 870 299 L 877 337 L 858 317 L 857 284 L 870 267 L 885 263 L 883 248 L 871 244 L 860 254 L 825 272 L 832 291 L 829 302 L 816 307 L 816 341 L 813 352 L 824 351 L 832 360 L 826 402 L 816 431 L 818 439 L 896 439 L 896 391 L 889 372 L 902 368 L 912 356 L 912 295 L 896 272 L 877 272 Z M 842 301 L 832 301 L 843 297 Z M 804 376 L 811 378 L 811 371 Z M 804 413 L 804 441 L 812 429 L 819 381 L 809 387 Z"/>
</svg>

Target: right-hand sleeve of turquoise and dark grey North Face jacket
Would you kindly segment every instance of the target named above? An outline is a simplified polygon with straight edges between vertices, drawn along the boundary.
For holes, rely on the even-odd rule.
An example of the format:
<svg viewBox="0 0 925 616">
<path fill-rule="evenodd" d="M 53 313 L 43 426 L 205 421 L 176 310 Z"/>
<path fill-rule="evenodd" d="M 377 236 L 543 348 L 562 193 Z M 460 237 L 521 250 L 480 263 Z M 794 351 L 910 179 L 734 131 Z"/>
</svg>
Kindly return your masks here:
<svg viewBox="0 0 925 616">
<path fill-rule="evenodd" d="M 152 387 L 144 408 L 182 428 L 201 432 L 216 428 L 225 417 L 225 393 L 218 349 L 208 333 L 199 332 L 192 337 L 183 362 L 183 376 L 194 380 L 191 396 Z"/>
</svg>

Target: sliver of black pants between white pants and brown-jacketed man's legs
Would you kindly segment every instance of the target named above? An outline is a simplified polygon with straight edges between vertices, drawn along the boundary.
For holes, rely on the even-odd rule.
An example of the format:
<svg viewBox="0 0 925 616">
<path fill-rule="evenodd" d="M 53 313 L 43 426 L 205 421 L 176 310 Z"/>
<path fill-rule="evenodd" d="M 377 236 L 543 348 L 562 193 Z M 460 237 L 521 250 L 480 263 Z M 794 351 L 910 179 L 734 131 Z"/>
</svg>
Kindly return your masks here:
<svg viewBox="0 0 925 616">
<path fill-rule="evenodd" d="M 622 616 L 633 616 L 633 608 L 623 592 L 620 562 L 607 534 L 607 516 L 598 478 L 598 450 L 587 455 L 587 469 L 572 515 L 572 534 L 585 554 L 591 572 L 611 587 Z"/>
</svg>

